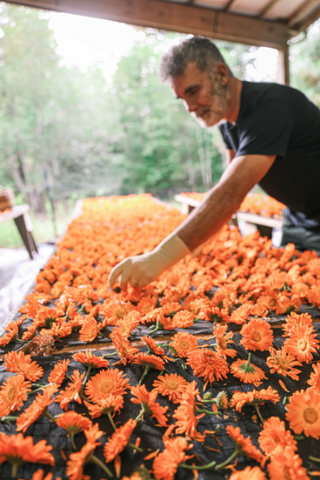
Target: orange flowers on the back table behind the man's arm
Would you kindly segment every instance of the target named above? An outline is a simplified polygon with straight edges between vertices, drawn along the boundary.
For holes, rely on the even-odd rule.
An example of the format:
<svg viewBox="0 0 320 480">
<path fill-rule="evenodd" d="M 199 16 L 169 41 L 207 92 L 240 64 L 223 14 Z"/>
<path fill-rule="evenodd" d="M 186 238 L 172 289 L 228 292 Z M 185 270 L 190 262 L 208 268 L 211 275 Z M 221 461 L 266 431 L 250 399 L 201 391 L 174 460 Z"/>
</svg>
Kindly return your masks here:
<svg viewBox="0 0 320 480">
<path fill-rule="evenodd" d="M 201 201 L 204 199 L 206 194 L 187 192 L 181 193 L 181 195 Z M 255 213 L 257 215 L 261 215 L 262 217 L 279 218 L 282 216 L 282 210 L 285 207 L 286 206 L 283 203 L 278 202 L 268 195 L 263 195 L 261 193 L 249 193 L 241 203 L 239 210 L 241 212 Z"/>
</svg>

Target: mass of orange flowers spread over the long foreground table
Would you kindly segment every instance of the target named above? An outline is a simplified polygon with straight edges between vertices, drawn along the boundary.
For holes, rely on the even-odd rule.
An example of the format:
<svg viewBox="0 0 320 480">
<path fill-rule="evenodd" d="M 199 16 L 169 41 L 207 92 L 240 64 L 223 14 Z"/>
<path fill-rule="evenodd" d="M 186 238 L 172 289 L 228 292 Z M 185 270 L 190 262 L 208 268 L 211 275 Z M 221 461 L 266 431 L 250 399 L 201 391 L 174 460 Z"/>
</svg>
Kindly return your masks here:
<svg viewBox="0 0 320 480">
<path fill-rule="evenodd" d="M 0 424 L 0 464 L 9 462 L 13 476 L 24 463 L 54 465 L 50 439 L 33 445 L 30 436 L 24 437 L 44 417 L 70 437 L 70 480 L 87 478 L 88 463 L 100 468 L 104 478 L 111 477 L 113 468 L 120 477 L 124 450 L 141 459 L 131 480 L 148 478 L 148 470 L 157 480 L 173 480 L 178 469 L 193 470 L 195 476 L 208 469 L 212 478 L 228 472 L 232 480 L 304 480 L 307 468 L 314 473 L 312 462 L 319 459 L 311 456 L 302 465 L 297 435 L 320 438 L 320 342 L 311 315 L 298 309 L 312 312 L 320 306 L 320 259 L 314 252 L 301 254 L 292 244 L 275 249 L 258 233 L 241 238 L 235 227 L 225 227 L 202 254 L 182 260 L 146 288 L 108 288 L 114 265 L 152 250 L 183 218 L 148 195 L 83 202 L 82 215 L 38 274 L 21 316 L 0 339 L 9 372 L 0 386 L 0 417 L 16 429 L 9 436 Z M 280 338 L 268 322 L 279 315 L 285 318 Z M 205 344 L 192 333 L 197 322 L 210 334 Z M 165 334 L 161 342 L 153 338 L 159 332 Z M 44 371 L 36 357 L 10 351 L 16 342 L 36 335 L 47 335 L 56 346 L 76 339 L 88 347 L 73 355 L 76 367 L 65 358 Z M 138 337 L 139 344 L 133 342 Z M 112 342 L 111 353 L 92 353 L 90 345 L 100 339 Z M 302 378 L 306 364 L 312 371 Z M 128 373 L 137 369 L 140 377 L 129 379 Z M 279 389 L 268 385 L 271 377 L 278 379 Z M 292 389 L 292 381 L 299 388 Z M 234 390 L 228 398 L 225 385 L 239 382 L 247 384 L 245 391 Z M 219 394 L 213 395 L 217 388 Z M 26 405 L 28 398 L 32 401 Z M 265 404 L 282 409 L 283 419 L 263 418 Z M 260 424 L 259 448 L 239 427 L 227 425 L 234 451 L 221 462 L 221 449 L 207 445 L 215 438 L 223 454 L 218 428 L 203 429 L 203 422 L 209 425 L 210 418 L 228 418 L 231 412 L 241 415 L 245 407 Z M 103 418 L 113 429 L 108 438 L 100 430 Z M 151 454 L 140 447 L 146 418 L 162 431 L 163 448 Z M 196 444 L 208 448 L 209 463 L 194 453 Z M 103 460 L 96 452 L 101 445 Z M 238 456 L 257 465 L 241 470 Z M 43 478 L 41 470 L 33 476 Z"/>
</svg>

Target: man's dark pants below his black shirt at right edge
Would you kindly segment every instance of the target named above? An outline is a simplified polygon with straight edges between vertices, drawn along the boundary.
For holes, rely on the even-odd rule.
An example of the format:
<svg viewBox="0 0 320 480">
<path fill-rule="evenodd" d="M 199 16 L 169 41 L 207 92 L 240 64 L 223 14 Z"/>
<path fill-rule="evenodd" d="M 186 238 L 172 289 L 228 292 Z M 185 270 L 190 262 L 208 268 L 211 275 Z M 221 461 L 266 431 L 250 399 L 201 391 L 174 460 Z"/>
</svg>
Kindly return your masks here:
<svg viewBox="0 0 320 480">
<path fill-rule="evenodd" d="M 320 256 L 320 233 L 295 226 L 292 221 L 284 216 L 282 227 L 281 247 L 294 243 L 297 250 L 315 250 Z"/>
</svg>

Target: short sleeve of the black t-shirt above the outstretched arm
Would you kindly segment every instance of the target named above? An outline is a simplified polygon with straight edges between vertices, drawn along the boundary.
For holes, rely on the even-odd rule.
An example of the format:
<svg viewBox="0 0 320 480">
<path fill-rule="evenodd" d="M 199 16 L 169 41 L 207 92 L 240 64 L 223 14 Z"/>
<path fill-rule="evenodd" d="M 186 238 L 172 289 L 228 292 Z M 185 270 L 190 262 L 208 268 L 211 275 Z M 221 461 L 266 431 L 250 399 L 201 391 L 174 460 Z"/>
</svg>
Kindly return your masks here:
<svg viewBox="0 0 320 480">
<path fill-rule="evenodd" d="M 241 122 L 236 156 L 276 155 L 285 158 L 291 132 L 289 111 L 281 102 L 270 100 Z"/>
</svg>

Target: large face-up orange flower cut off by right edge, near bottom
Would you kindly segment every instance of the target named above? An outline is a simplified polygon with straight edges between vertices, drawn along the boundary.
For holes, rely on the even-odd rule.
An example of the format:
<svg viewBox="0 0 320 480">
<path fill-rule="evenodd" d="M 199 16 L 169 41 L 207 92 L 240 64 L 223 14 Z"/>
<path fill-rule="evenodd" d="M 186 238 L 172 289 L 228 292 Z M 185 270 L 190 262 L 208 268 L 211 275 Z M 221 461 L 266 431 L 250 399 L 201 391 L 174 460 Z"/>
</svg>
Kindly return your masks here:
<svg viewBox="0 0 320 480">
<path fill-rule="evenodd" d="M 316 389 L 294 392 L 287 404 L 286 419 L 295 433 L 320 437 L 320 392 Z"/>
</svg>

